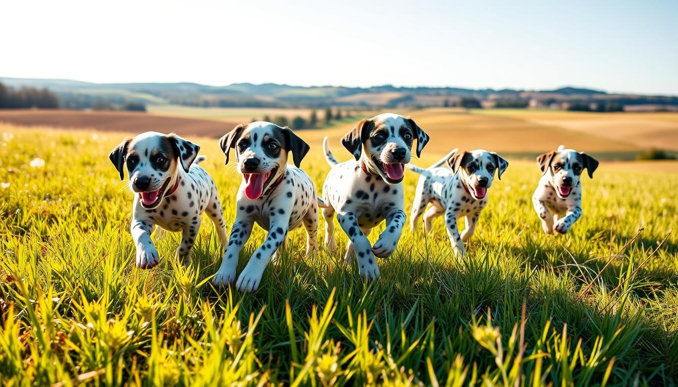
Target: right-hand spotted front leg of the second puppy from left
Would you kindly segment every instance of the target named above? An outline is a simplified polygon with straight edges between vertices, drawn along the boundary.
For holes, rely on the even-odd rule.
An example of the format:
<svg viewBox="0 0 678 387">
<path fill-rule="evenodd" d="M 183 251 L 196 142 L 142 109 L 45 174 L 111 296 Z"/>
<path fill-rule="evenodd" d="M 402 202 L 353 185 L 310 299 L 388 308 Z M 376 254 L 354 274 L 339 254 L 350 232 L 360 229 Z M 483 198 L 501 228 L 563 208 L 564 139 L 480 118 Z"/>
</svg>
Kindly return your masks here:
<svg viewBox="0 0 678 387">
<path fill-rule="evenodd" d="M 285 213 L 289 214 L 289 209 Z M 264 269 L 271 261 L 273 253 L 287 237 L 289 222 L 289 216 L 277 216 L 275 220 L 271 221 L 271 228 L 268 230 L 264 244 L 252 253 L 250 262 L 247 262 L 247 266 L 240 273 L 238 281 L 235 283 L 239 291 L 255 291 L 259 287 Z"/>
</svg>

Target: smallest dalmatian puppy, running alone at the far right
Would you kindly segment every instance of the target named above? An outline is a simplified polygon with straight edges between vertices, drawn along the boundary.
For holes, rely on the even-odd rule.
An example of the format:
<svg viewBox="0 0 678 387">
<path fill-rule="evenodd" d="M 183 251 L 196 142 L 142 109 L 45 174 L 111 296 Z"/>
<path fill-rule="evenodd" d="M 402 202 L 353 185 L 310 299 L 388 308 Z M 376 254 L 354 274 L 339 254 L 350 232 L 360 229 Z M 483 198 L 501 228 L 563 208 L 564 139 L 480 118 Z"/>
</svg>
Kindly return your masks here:
<svg viewBox="0 0 678 387">
<path fill-rule="evenodd" d="M 598 161 L 584 152 L 565 149 L 546 152 L 537 157 L 542 178 L 532 195 L 532 204 L 546 234 L 565 234 L 582 216 L 582 171 L 589 171 L 589 178 L 598 167 Z"/>
</svg>

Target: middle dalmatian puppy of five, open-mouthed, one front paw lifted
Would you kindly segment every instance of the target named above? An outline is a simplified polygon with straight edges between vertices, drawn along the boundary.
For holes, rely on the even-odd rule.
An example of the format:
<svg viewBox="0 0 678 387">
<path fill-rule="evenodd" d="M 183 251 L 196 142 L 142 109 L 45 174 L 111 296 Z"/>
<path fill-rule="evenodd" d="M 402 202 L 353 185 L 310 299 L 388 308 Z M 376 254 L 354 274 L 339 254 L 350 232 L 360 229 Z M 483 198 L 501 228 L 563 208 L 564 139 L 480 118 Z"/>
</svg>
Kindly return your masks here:
<svg viewBox="0 0 678 387">
<path fill-rule="evenodd" d="M 428 135 L 410 117 L 386 113 L 363 119 L 346 134 L 342 145 L 354 159 L 338 163 L 323 142 L 325 159 L 332 169 L 323 184 L 325 246 L 336 249 L 334 214 L 348 235 L 346 262 L 357 253 L 359 272 L 366 281 L 379 277 L 375 256 L 391 256 L 405 224 L 403 211 L 404 165 L 410 162 L 410 149 L 417 140 L 417 157 L 428 142 Z M 386 228 L 374 246 L 367 236 L 386 220 Z"/>
</svg>

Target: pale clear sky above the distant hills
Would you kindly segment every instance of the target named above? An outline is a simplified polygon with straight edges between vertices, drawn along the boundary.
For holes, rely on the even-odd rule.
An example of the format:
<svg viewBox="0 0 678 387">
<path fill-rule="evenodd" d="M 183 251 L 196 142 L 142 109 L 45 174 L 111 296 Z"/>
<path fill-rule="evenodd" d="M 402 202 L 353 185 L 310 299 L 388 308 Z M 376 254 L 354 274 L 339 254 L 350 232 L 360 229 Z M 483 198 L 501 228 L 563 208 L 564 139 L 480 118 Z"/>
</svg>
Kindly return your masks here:
<svg viewBox="0 0 678 387">
<path fill-rule="evenodd" d="M 2 77 L 678 95 L 678 1 L 10 1 Z"/>
</svg>

